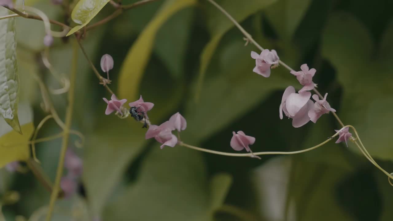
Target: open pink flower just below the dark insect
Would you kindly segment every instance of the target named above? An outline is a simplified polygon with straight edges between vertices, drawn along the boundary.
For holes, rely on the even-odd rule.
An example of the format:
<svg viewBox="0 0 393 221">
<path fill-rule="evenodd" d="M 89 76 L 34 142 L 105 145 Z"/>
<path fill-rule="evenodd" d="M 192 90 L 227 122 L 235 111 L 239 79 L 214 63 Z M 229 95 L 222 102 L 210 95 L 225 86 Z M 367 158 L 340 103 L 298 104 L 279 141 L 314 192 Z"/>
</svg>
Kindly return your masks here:
<svg viewBox="0 0 393 221">
<path fill-rule="evenodd" d="M 172 131 L 175 129 L 173 122 L 166 121 L 162 123 L 160 126 L 151 125 L 145 134 L 145 138 L 155 138 L 162 145 L 160 148 L 164 148 L 164 146 L 174 147 L 177 144 L 177 137 L 172 134 Z"/>
</svg>

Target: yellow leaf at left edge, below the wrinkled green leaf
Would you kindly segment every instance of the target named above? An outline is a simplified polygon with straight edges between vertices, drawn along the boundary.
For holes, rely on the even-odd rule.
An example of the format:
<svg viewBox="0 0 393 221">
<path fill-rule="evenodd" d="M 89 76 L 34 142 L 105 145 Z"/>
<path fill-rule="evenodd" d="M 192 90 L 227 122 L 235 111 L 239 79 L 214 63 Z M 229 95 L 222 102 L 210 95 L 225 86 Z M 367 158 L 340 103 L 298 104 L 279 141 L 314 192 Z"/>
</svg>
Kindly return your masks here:
<svg viewBox="0 0 393 221">
<path fill-rule="evenodd" d="M 0 168 L 13 161 L 27 160 L 30 156 L 29 139 L 33 134 L 33 123 L 22 125 L 23 134 L 11 131 L 0 137 Z"/>
</svg>

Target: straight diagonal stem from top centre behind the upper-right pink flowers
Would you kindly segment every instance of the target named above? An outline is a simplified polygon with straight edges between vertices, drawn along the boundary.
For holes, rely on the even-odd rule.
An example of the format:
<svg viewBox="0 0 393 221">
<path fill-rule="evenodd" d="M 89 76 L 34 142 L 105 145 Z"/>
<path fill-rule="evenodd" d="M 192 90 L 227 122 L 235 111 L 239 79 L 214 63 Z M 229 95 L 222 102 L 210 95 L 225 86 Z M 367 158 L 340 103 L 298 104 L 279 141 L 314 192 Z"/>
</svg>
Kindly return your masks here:
<svg viewBox="0 0 393 221">
<path fill-rule="evenodd" d="M 263 48 L 251 37 L 251 35 L 246 30 L 244 30 L 244 28 L 227 11 L 225 11 L 225 9 L 223 9 L 214 0 L 207 0 L 207 1 L 210 2 L 211 4 L 213 4 L 215 7 L 217 7 L 217 9 L 219 9 L 226 17 L 228 17 L 229 20 L 231 20 L 231 22 L 233 22 L 233 24 L 235 24 L 235 26 L 243 33 L 243 35 L 248 39 L 248 41 L 250 41 L 252 44 L 254 44 L 259 50 L 263 51 Z M 278 62 L 279 62 L 279 64 L 284 66 L 289 71 L 294 71 L 290 66 L 285 64 L 283 61 L 279 60 Z M 314 88 L 314 92 L 316 94 L 318 94 L 318 96 L 321 99 L 323 99 L 323 96 L 321 95 L 321 93 L 316 88 Z M 332 112 L 332 114 L 337 119 L 337 121 L 340 123 L 340 125 L 342 127 L 344 127 L 344 124 L 342 123 L 342 121 L 340 120 L 338 115 L 335 112 Z"/>
</svg>

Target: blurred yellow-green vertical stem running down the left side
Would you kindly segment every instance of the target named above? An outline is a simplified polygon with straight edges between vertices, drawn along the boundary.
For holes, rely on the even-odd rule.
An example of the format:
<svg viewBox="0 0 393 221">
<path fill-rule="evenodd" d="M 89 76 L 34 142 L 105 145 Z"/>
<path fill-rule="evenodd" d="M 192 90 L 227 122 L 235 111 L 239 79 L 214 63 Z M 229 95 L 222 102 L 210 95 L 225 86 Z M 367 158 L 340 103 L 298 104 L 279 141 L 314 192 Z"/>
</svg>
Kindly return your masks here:
<svg viewBox="0 0 393 221">
<path fill-rule="evenodd" d="M 74 92 L 75 92 L 74 86 L 75 86 L 75 78 L 76 78 L 77 62 L 78 62 L 78 45 L 75 41 L 77 41 L 77 40 L 74 39 L 73 44 L 72 44 L 73 55 L 72 55 L 72 65 L 71 65 L 71 73 L 70 73 L 70 90 L 68 91 L 68 107 L 66 110 L 66 119 L 65 119 L 65 127 L 64 127 L 64 132 L 63 132 L 64 133 L 63 134 L 63 141 L 62 141 L 62 145 L 61 145 L 59 164 L 57 166 L 55 184 L 53 186 L 53 190 L 52 190 L 52 193 L 50 196 L 48 214 L 46 215 L 46 219 L 45 219 L 46 221 L 51 220 L 51 217 L 53 214 L 53 208 L 55 206 L 57 195 L 59 193 L 60 180 L 63 175 L 64 158 L 65 158 L 67 147 L 68 147 L 68 138 L 70 136 L 69 131 L 70 131 L 71 120 L 72 120 Z"/>
</svg>

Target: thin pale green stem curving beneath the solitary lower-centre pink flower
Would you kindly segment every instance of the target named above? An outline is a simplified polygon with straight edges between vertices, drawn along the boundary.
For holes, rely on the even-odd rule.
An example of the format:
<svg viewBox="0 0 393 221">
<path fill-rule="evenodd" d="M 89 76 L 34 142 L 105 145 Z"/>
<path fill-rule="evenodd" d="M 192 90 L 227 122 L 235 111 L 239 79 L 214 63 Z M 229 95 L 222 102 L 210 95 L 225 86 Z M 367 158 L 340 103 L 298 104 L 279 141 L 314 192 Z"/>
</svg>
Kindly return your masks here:
<svg viewBox="0 0 393 221">
<path fill-rule="evenodd" d="M 351 127 L 351 125 L 347 125 L 345 127 Z M 258 155 L 291 155 L 291 154 L 304 153 L 304 152 L 316 149 L 316 148 L 326 144 L 327 142 L 331 141 L 338 134 L 339 134 L 339 132 L 335 133 L 333 136 L 329 137 L 324 142 L 322 142 L 322 143 L 320 143 L 318 145 L 315 145 L 313 147 L 310 147 L 310 148 L 307 148 L 307 149 L 303 149 L 303 150 L 299 150 L 299 151 L 289 151 L 289 152 L 285 152 L 285 151 L 265 151 L 265 152 L 255 152 L 255 153 L 228 153 L 228 152 L 204 149 L 204 148 L 201 148 L 201 147 L 195 147 L 193 145 L 185 144 L 182 141 L 179 141 L 178 145 L 183 146 L 183 147 L 188 147 L 190 149 L 195 149 L 195 150 L 198 150 L 198 151 L 206 152 L 206 153 L 213 153 L 213 154 L 217 154 L 217 155 L 230 156 L 230 157 L 253 157 L 253 156 L 258 156 Z"/>
</svg>

